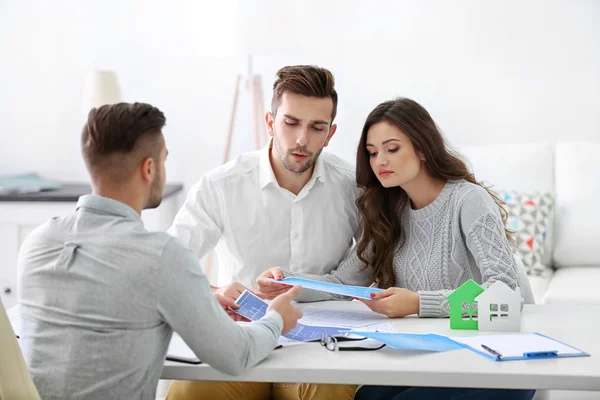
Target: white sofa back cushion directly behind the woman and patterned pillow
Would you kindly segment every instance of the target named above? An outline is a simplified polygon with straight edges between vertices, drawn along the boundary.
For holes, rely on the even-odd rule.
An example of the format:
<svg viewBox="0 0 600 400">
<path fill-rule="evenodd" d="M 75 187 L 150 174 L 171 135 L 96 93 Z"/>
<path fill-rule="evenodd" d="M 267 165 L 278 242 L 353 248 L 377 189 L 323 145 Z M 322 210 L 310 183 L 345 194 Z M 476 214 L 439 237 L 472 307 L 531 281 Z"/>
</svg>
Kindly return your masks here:
<svg viewBox="0 0 600 400">
<path fill-rule="evenodd" d="M 478 181 L 499 191 L 554 193 L 554 145 L 550 143 L 459 146 Z M 543 264 L 552 265 L 554 213 L 551 212 Z"/>
</svg>

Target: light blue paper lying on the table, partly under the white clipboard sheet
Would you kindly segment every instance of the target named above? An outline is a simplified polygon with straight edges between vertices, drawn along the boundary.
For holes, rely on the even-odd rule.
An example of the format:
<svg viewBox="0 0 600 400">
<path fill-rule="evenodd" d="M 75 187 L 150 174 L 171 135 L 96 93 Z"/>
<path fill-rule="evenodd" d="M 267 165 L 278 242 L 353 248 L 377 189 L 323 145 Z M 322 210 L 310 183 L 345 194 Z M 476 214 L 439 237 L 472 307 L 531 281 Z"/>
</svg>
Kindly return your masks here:
<svg viewBox="0 0 600 400">
<path fill-rule="evenodd" d="M 463 347 L 452 339 L 434 333 L 390 333 L 390 332 L 355 332 L 352 335 L 365 336 L 385 343 L 394 349 L 448 351 Z"/>
</svg>

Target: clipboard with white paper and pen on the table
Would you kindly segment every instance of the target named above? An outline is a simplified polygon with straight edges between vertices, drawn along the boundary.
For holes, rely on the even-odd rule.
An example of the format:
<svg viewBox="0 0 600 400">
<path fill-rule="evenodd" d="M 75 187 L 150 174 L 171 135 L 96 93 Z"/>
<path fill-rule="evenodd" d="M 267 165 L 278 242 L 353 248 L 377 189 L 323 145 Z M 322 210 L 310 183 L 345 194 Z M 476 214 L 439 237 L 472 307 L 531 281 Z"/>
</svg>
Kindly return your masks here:
<svg viewBox="0 0 600 400">
<path fill-rule="evenodd" d="M 589 357 L 590 354 L 541 333 L 451 337 L 463 347 L 494 361 Z"/>
</svg>

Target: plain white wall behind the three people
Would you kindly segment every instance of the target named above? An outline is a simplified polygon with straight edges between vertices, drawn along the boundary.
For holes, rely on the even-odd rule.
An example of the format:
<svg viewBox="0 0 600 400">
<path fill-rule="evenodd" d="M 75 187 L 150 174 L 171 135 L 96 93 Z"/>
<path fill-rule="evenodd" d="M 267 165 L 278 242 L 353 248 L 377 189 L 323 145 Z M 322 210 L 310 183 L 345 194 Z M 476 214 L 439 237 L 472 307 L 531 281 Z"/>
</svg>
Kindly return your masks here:
<svg viewBox="0 0 600 400">
<path fill-rule="evenodd" d="M 262 29 L 279 43 L 254 57 L 266 106 L 280 66 L 331 69 L 330 149 L 350 160 L 368 112 L 395 96 L 421 102 L 455 144 L 600 139 L 600 2 L 305 0 L 288 3 L 293 18 L 255 3 L 272 10 Z M 222 161 L 246 68 L 233 54 L 235 11 L 232 1 L 0 0 L 0 174 L 86 180 L 81 90 L 89 70 L 110 68 L 127 101 L 165 112 L 169 180 L 189 186 Z M 249 146 L 245 109 L 240 119 L 235 153 Z"/>
</svg>

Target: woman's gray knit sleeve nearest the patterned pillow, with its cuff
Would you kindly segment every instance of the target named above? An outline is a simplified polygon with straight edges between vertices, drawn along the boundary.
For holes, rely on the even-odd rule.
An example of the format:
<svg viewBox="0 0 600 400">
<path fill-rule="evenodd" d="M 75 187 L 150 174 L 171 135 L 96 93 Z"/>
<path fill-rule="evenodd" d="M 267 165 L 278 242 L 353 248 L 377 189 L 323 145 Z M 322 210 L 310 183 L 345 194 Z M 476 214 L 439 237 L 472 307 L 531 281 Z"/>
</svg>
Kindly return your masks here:
<svg viewBox="0 0 600 400">
<path fill-rule="evenodd" d="M 504 232 L 504 223 L 494 200 L 484 188 L 470 192 L 459 210 L 460 228 L 453 230 L 454 240 L 465 240 L 481 272 L 482 287 L 502 281 L 511 289 L 517 286 L 517 265 Z M 448 317 L 446 299 L 453 290 L 419 291 L 420 317 Z"/>
</svg>

